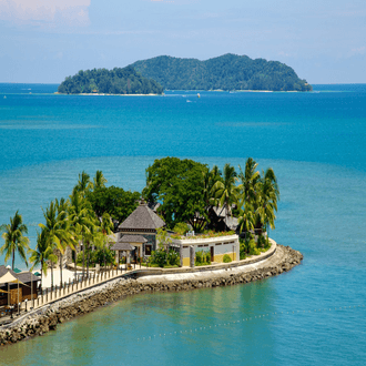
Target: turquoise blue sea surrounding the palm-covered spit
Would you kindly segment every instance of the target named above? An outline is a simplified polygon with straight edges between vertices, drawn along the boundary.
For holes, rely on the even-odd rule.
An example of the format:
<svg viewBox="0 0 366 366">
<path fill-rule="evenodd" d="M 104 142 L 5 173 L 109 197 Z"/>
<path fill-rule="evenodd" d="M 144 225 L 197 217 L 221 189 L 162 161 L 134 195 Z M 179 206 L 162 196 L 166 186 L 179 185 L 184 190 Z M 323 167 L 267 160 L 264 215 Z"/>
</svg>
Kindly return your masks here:
<svg viewBox="0 0 366 366">
<path fill-rule="evenodd" d="M 0 365 L 365 365 L 366 84 L 201 98 L 57 87 L 0 84 L 0 223 L 19 210 L 32 247 L 41 207 L 83 170 L 141 191 L 156 157 L 237 169 L 252 156 L 279 183 L 271 236 L 304 261 L 253 284 L 120 301 L 1 348 Z"/>
</svg>

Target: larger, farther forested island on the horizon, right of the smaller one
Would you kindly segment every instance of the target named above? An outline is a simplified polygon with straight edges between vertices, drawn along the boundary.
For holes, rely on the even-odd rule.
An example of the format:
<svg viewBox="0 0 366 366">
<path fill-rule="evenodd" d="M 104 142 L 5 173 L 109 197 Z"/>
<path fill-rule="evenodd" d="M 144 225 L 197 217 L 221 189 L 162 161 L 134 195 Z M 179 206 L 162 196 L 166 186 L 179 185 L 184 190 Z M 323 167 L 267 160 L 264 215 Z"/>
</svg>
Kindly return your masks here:
<svg viewBox="0 0 366 366">
<path fill-rule="evenodd" d="M 313 90 L 284 63 L 231 53 L 206 61 L 160 55 L 130 67 L 165 90 Z"/>
</svg>

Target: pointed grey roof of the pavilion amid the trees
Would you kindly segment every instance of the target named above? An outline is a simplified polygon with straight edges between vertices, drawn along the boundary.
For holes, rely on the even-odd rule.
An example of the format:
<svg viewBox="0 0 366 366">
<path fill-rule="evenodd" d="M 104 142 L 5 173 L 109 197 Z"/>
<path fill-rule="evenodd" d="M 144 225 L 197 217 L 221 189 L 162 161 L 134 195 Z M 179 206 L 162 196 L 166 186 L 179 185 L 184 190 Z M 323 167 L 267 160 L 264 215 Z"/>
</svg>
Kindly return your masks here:
<svg viewBox="0 0 366 366">
<path fill-rule="evenodd" d="M 119 230 L 155 231 L 156 228 L 163 226 L 165 226 L 164 221 L 160 218 L 151 209 L 149 209 L 146 203 L 142 202 L 140 206 L 138 206 L 136 210 L 133 211 L 132 214 L 119 225 Z"/>
</svg>

